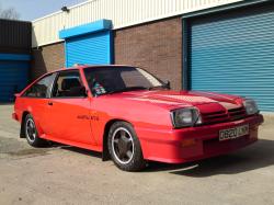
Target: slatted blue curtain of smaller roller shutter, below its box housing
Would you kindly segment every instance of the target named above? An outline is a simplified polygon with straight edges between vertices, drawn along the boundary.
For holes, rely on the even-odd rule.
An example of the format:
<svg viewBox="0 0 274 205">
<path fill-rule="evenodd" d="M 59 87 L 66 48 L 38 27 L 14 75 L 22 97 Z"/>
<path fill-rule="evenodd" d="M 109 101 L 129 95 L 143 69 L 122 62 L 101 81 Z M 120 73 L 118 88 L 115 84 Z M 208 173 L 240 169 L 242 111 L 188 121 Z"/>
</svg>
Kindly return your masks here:
<svg viewBox="0 0 274 205">
<path fill-rule="evenodd" d="M 111 64 L 111 32 L 98 32 L 66 41 L 67 66 Z"/>
</svg>

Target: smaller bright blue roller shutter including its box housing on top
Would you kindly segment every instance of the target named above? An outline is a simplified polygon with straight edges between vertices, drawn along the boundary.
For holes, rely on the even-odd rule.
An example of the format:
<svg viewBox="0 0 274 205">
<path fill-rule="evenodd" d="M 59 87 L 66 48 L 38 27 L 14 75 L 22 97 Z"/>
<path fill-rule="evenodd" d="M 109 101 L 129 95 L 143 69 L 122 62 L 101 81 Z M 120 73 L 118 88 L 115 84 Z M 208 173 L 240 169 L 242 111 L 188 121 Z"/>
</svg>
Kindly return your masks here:
<svg viewBox="0 0 274 205">
<path fill-rule="evenodd" d="M 112 21 L 99 20 L 59 32 L 65 39 L 66 67 L 76 64 L 107 65 L 113 61 Z"/>
</svg>

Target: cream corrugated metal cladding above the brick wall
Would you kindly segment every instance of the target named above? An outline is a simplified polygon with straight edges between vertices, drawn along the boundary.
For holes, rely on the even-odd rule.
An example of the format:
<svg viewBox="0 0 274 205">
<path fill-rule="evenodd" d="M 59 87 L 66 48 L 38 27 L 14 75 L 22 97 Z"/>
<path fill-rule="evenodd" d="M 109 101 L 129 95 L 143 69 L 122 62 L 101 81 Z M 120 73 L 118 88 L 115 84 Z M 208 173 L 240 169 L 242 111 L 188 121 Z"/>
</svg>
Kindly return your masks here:
<svg viewBox="0 0 274 205">
<path fill-rule="evenodd" d="M 179 15 L 241 0 L 90 0 L 33 22 L 33 47 L 60 41 L 58 32 L 101 19 L 114 29 Z"/>
</svg>

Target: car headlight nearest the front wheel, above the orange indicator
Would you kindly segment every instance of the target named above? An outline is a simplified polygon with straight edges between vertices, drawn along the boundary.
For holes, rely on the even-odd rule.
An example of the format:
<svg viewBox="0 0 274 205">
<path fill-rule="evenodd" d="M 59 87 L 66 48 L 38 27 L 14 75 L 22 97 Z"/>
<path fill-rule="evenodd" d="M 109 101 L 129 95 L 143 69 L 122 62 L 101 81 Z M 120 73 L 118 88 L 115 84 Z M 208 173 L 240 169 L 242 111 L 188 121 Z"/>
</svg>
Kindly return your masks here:
<svg viewBox="0 0 274 205">
<path fill-rule="evenodd" d="M 190 127 L 202 124 L 199 112 L 195 107 L 185 107 L 171 111 L 171 121 L 174 128 Z"/>
</svg>

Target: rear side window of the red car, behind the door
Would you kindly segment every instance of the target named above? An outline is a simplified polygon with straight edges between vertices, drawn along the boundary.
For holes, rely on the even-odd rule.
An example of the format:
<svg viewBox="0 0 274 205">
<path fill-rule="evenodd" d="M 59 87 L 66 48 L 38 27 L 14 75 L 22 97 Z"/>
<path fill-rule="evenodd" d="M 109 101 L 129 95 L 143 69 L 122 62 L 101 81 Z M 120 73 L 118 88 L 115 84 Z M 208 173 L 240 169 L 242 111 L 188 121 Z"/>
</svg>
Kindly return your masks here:
<svg viewBox="0 0 274 205">
<path fill-rule="evenodd" d="M 30 98 L 49 98 L 50 90 L 55 80 L 56 73 L 50 73 L 39 81 L 35 82 L 31 88 L 28 88 L 23 96 Z"/>
</svg>

